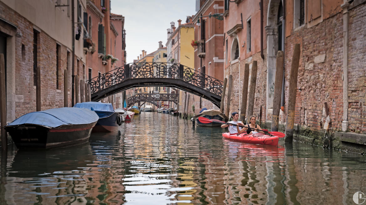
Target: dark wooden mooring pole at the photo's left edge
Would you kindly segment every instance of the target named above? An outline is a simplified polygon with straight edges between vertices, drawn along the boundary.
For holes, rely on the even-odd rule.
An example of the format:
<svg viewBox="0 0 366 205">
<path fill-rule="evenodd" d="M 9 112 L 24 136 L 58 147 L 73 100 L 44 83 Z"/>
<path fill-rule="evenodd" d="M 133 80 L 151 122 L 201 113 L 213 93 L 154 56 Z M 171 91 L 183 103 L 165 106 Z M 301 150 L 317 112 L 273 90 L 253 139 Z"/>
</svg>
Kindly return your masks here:
<svg viewBox="0 0 366 205">
<path fill-rule="evenodd" d="M 1 123 L 1 150 L 7 153 L 8 135 L 4 129 L 6 125 L 6 85 L 5 85 L 5 60 L 4 54 L 0 54 L 0 123 Z"/>
</svg>

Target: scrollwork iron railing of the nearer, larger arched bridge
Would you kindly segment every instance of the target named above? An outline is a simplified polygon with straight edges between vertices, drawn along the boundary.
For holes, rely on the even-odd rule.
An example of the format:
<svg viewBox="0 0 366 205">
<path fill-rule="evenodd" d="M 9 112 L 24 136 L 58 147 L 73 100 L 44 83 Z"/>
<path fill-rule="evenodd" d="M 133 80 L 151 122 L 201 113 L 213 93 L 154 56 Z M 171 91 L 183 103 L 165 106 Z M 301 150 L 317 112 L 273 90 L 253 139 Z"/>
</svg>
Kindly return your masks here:
<svg viewBox="0 0 366 205">
<path fill-rule="evenodd" d="M 178 63 L 128 63 L 87 81 L 91 94 L 131 78 L 175 78 L 221 96 L 223 81 Z"/>
</svg>

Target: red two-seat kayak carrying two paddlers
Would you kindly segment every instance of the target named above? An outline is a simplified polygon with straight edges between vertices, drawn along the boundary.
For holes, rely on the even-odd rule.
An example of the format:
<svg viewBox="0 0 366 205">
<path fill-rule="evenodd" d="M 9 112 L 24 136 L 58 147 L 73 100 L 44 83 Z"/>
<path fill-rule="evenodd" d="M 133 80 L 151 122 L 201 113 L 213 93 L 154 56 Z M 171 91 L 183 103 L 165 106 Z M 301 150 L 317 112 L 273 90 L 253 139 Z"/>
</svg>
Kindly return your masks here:
<svg viewBox="0 0 366 205">
<path fill-rule="evenodd" d="M 236 142 L 243 142 L 247 144 L 268 144 L 277 146 L 278 136 L 270 136 L 263 133 L 254 133 L 246 135 L 246 133 L 230 134 L 230 132 L 223 132 L 223 137 Z"/>
</svg>

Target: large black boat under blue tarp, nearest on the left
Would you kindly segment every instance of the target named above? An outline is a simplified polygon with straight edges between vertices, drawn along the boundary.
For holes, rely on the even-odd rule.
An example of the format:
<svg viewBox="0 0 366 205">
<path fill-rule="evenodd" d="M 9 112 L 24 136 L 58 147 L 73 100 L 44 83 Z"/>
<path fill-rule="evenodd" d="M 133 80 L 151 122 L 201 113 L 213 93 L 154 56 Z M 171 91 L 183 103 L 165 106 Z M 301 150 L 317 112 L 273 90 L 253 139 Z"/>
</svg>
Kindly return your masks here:
<svg viewBox="0 0 366 205">
<path fill-rule="evenodd" d="M 85 142 L 98 115 L 85 108 L 27 113 L 5 126 L 17 148 L 52 148 Z"/>
</svg>

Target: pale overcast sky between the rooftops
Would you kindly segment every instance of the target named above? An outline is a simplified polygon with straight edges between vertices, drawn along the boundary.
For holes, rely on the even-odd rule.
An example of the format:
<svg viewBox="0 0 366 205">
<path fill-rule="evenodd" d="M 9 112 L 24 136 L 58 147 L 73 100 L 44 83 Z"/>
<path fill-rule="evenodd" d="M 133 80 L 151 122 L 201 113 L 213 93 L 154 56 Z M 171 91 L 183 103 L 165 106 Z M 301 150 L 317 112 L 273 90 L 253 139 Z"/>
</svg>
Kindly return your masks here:
<svg viewBox="0 0 366 205">
<path fill-rule="evenodd" d="M 132 63 L 142 50 L 156 51 L 159 41 L 167 43 L 170 22 L 178 27 L 178 19 L 186 23 L 195 15 L 195 0 L 112 0 L 111 12 L 124 16 L 127 63 Z"/>
</svg>

